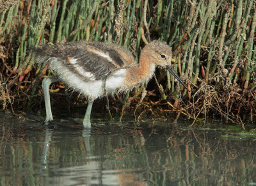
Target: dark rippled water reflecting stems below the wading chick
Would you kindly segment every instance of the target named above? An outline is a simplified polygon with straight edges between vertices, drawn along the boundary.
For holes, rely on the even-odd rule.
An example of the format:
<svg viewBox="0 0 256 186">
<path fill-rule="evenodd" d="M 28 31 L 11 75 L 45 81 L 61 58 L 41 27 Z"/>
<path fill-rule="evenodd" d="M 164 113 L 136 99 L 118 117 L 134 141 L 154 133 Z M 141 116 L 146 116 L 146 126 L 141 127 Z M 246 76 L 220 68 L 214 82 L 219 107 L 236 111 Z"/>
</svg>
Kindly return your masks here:
<svg viewBox="0 0 256 186">
<path fill-rule="evenodd" d="M 0 118 L 0 185 L 256 185 L 253 137 L 162 118 L 93 120 L 92 131 L 70 119 L 45 128 L 38 117 Z"/>
</svg>

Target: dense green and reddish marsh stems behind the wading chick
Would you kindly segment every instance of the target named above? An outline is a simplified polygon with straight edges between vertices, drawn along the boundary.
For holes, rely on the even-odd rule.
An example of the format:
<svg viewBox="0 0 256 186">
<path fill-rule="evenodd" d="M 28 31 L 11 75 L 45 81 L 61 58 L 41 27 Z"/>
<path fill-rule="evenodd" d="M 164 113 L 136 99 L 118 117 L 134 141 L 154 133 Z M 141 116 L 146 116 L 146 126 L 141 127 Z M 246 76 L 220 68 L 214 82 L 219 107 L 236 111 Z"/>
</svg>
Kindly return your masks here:
<svg viewBox="0 0 256 186">
<path fill-rule="evenodd" d="M 36 95 L 41 72 L 45 72 L 44 66 L 34 65 L 30 49 L 40 43 L 113 42 L 128 47 L 138 59 L 145 43 L 159 39 L 172 47 L 174 67 L 191 89 L 188 93 L 175 86 L 172 75 L 161 70 L 160 100 L 180 102 L 194 119 L 214 111 L 227 120 L 241 121 L 239 117 L 250 111 L 246 119 L 253 120 L 255 1 L 143 3 L 147 1 L 30 0 L 10 4 L 0 13 L 0 81 L 9 89 L 17 88 L 17 93 Z"/>
</svg>

